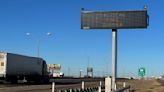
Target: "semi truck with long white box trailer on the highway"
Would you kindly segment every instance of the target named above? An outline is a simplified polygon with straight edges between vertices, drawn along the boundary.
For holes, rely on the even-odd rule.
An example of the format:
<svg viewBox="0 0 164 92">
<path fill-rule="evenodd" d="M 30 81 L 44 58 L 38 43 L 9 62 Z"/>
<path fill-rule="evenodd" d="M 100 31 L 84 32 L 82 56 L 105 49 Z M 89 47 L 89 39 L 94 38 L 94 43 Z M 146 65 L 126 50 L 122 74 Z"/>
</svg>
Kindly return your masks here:
<svg viewBox="0 0 164 92">
<path fill-rule="evenodd" d="M 0 79 L 14 82 L 48 81 L 47 64 L 42 58 L 0 52 Z"/>
</svg>

